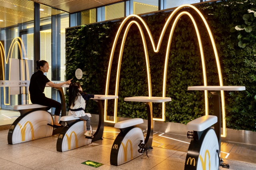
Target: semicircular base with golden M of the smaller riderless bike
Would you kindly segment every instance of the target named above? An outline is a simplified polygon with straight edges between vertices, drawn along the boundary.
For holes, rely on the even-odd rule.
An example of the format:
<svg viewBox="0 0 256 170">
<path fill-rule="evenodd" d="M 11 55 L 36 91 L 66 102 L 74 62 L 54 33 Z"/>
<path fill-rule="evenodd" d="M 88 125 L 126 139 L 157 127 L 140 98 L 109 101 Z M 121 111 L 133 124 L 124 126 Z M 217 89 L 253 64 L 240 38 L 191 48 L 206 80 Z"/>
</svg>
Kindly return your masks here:
<svg viewBox="0 0 256 170">
<path fill-rule="evenodd" d="M 140 140 L 144 143 L 144 134 L 141 128 L 127 127 L 120 129 L 120 133 L 116 136 L 111 148 L 110 164 L 119 166 L 142 155 L 138 152 Z"/>
</svg>

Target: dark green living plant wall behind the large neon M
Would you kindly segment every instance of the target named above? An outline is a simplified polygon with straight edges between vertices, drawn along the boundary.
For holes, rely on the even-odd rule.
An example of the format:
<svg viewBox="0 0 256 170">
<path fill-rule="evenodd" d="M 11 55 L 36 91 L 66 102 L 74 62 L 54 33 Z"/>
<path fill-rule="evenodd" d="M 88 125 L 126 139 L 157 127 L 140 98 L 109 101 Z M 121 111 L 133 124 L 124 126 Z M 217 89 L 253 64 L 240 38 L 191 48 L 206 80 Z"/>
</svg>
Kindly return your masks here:
<svg viewBox="0 0 256 170">
<path fill-rule="evenodd" d="M 255 0 L 222 0 L 196 6 L 206 18 L 214 36 L 224 85 L 246 87 L 246 91 L 225 92 L 227 127 L 253 131 L 256 131 L 255 24 L 252 24 L 250 33 L 244 30 L 230 32 L 230 29 L 242 25 L 245 22 L 243 15 L 248 14 L 248 9 L 256 8 L 255 4 Z M 190 8 L 184 8 L 183 11 L 189 11 L 194 16 L 200 31 L 206 61 L 207 84 L 219 85 L 216 60 L 206 28 L 200 18 L 197 17 L 196 12 Z M 142 16 L 152 32 L 155 42 L 159 40 L 163 25 L 171 12 Z M 251 19 L 252 23 L 255 23 L 255 19 Z M 87 93 L 105 94 L 110 52 L 121 22 L 106 22 L 67 29 L 66 79 L 73 78 L 74 81 L 79 81 Z M 149 37 L 146 33 L 144 34 L 150 60 L 152 96 L 162 96 L 165 50 L 170 28 L 171 25 L 168 26 L 168 31 L 158 53 L 154 52 Z M 123 33 L 122 31 L 121 34 Z M 244 48 L 238 45 L 238 42 L 241 41 L 240 34 L 243 35 L 244 43 L 246 43 Z M 114 95 L 115 90 L 122 35 L 119 37 L 112 63 L 109 95 Z M 78 68 L 82 69 L 84 74 L 80 80 L 74 76 Z M 175 28 L 168 60 L 166 97 L 171 97 L 172 102 L 166 103 L 167 122 L 186 124 L 204 115 L 204 93 L 187 90 L 188 86 L 196 85 L 203 85 L 199 45 L 190 18 L 182 16 Z M 124 101 L 125 97 L 132 96 L 148 96 L 146 61 L 142 38 L 136 26 L 131 26 L 124 46 L 118 90 L 118 117 L 147 119 L 146 107 L 143 104 Z M 209 113 L 213 114 L 210 93 L 208 97 Z M 108 115 L 113 112 L 113 103 L 114 100 L 108 101 Z M 153 117 L 160 117 L 162 115 L 161 109 L 161 104 L 153 103 Z M 94 101 L 89 100 L 87 102 L 86 112 L 97 114 L 97 106 Z"/>
</svg>

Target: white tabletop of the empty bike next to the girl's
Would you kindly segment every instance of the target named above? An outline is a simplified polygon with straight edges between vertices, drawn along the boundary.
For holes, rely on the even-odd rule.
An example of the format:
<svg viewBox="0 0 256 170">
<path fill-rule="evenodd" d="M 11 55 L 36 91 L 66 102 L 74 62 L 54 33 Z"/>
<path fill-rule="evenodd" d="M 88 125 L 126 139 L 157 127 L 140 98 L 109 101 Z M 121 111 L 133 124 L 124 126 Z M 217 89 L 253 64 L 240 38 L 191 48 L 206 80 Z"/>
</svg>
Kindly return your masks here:
<svg viewBox="0 0 256 170">
<path fill-rule="evenodd" d="M 162 103 L 166 101 L 172 101 L 170 97 L 147 97 L 147 96 L 138 96 L 138 97 L 126 97 L 124 101 L 141 101 L 141 102 L 157 102 Z"/>
</svg>

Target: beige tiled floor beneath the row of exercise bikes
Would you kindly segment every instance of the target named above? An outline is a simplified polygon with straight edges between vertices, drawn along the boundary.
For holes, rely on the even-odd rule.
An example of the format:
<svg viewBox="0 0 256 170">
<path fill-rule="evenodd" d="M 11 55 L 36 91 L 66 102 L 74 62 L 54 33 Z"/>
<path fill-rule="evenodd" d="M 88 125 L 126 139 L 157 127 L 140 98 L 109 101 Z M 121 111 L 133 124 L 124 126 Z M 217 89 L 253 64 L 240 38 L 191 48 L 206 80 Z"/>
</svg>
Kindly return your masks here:
<svg viewBox="0 0 256 170">
<path fill-rule="evenodd" d="M 93 124 L 93 129 L 97 125 Z M 97 170 L 183 170 L 186 150 L 190 139 L 182 135 L 154 132 L 153 149 L 148 156 L 144 153 L 134 160 L 120 166 L 110 165 L 110 150 L 119 130 L 110 126 L 104 127 L 103 140 L 67 152 L 56 151 L 58 135 L 41 138 L 30 142 L 10 145 L 7 142 L 8 130 L 0 131 L 0 170 L 79 170 L 95 169 L 81 164 L 87 160 L 104 165 Z M 180 140 L 180 141 L 178 141 Z M 188 143 L 186 143 L 188 142 Z M 224 150 L 224 145 L 226 149 Z M 224 163 L 230 164 L 232 170 L 256 170 L 255 146 L 230 144 L 222 142 L 222 148 L 229 153 Z M 244 152 L 246 156 L 241 156 Z M 240 161 L 231 158 L 240 154 Z M 224 154 L 226 156 L 227 154 Z M 252 163 L 243 159 L 250 158 Z M 220 168 L 224 169 L 224 168 Z"/>
</svg>

